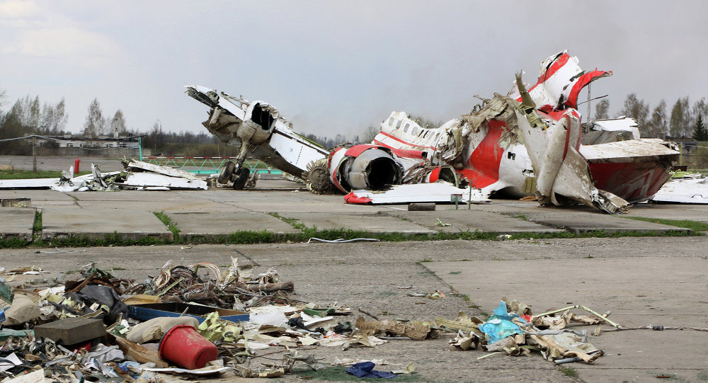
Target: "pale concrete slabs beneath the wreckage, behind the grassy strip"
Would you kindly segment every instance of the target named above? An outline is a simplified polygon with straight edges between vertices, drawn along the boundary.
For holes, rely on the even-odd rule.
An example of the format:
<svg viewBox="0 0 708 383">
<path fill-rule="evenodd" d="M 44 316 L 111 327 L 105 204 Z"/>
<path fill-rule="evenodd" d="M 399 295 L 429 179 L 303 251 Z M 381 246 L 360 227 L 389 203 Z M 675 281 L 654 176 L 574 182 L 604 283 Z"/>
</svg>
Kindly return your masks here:
<svg viewBox="0 0 708 383">
<path fill-rule="evenodd" d="M 606 215 L 589 207 L 539 207 L 536 202 L 495 200 L 490 205 L 438 205 L 433 212 L 409 212 L 406 205 L 348 205 L 341 195 L 316 195 L 282 180 L 259 181 L 257 190 L 129 191 L 59 193 L 51 190 L 1 190 L 0 198 L 30 198 L 42 212 L 42 238 L 119 234 L 171 238 L 152 212 L 164 212 L 187 236 L 224 236 L 234 231 L 297 232 L 268 215 L 295 219 L 317 229 L 355 229 L 372 233 L 435 234 L 481 231 L 530 234 L 571 231 L 681 231 L 677 227 Z M 10 220 L 10 210 L 0 210 Z M 636 205 L 629 215 L 708 220 L 703 205 Z M 439 220 L 439 221 L 438 221 Z M 0 235 L 15 232 L 0 226 Z M 25 232 L 26 234 L 26 232 Z M 23 235 L 25 235 L 23 234 Z M 13 234 L 14 235 L 14 234 Z"/>
</svg>

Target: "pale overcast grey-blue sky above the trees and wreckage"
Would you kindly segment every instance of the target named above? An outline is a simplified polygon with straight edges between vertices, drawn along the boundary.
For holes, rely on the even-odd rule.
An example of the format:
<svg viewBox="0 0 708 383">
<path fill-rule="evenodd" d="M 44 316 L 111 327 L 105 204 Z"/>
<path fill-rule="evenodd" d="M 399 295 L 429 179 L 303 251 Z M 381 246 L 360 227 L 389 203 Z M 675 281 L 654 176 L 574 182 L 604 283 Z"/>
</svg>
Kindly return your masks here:
<svg viewBox="0 0 708 383">
<path fill-rule="evenodd" d="M 535 82 L 561 50 L 618 113 L 708 96 L 707 1 L 0 1 L 0 90 L 66 99 L 79 132 L 98 98 L 132 129 L 206 132 L 199 84 L 274 105 L 304 134 L 349 138 L 392 110 L 432 120 Z M 585 97 L 584 94 L 581 97 Z M 581 112 L 586 108 L 581 106 Z M 594 113 L 594 112 L 593 112 Z"/>
</svg>

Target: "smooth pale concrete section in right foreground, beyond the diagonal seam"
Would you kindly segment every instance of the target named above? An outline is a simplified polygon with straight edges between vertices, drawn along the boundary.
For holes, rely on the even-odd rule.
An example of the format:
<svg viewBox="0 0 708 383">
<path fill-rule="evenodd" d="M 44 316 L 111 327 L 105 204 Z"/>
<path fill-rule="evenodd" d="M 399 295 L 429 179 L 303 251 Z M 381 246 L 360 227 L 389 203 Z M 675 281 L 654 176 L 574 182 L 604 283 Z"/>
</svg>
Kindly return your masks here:
<svg viewBox="0 0 708 383">
<path fill-rule="evenodd" d="M 508 297 L 532 305 L 535 314 L 581 304 L 598 312 L 612 311 L 610 319 L 624 327 L 708 327 L 708 268 L 704 257 L 635 258 L 621 248 L 618 243 L 613 258 L 425 265 L 487 312 L 499 304 L 501 297 Z M 590 333 L 595 327 L 581 328 Z M 586 382 L 656 382 L 659 375 L 680 382 L 701 382 L 708 377 L 706 332 L 619 331 L 591 336 L 588 341 L 605 351 L 605 356 L 594 365 L 569 365 Z"/>
</svg>

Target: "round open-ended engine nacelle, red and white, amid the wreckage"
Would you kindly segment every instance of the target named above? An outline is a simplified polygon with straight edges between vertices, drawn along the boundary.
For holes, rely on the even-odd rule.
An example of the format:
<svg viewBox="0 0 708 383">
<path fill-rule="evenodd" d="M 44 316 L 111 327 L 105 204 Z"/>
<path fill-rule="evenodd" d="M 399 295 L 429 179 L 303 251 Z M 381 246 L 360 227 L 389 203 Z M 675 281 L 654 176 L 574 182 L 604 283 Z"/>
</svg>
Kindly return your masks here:
<svg viewBox="0 0 708 383">
<path fill-rule="evenodd" d="M 384 190 L 387 185 L 399 185 L 403 166 L 390 149 L 361 144 L 337 148 L 329 156 L 329 176 L 344 193 L 352 190 Z"/>
</svg>

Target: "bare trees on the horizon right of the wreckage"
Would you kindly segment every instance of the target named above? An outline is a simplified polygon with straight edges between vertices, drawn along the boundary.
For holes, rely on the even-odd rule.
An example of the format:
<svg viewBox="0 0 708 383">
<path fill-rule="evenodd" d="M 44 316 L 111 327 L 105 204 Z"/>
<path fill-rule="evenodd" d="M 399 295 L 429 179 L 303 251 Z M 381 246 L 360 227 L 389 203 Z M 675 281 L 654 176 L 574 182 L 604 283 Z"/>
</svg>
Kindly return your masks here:
<svg viewBox="0 0 708 383">
<path fill-rule="evenodd" d="M 688 96 L 678 98 L 667 110 L 666 101 L 661 100 L 649 113 L 649 103 L 630 93 L 615 117 L 625 115 L 634 118 L 639 125 L 641 137 L 661 139 L 695 139 L 708 141 L 708 130 L 704 121 L 708 118 L 708 103 L 701 98 L 690 104 Z M 610 101 L 606 98 L 595 104 L 595 120 L 610 118 Z"/>
</svg>

